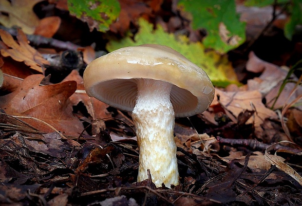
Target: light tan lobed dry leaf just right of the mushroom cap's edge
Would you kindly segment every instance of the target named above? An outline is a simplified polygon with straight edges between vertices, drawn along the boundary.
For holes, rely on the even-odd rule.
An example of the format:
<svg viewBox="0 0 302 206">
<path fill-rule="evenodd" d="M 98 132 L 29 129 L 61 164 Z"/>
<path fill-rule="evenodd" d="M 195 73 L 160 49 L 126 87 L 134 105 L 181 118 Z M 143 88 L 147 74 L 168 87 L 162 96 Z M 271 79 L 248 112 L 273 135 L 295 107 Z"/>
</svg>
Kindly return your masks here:
<svg viewBox="0 0 302 206">
<path fill-rule="evenodd" d="M 223 92 L 219 89 L 215 89 L 215 98 L 211 106 L 219 105 L 217 95 L 220 96 L 220 103 L 231 112 L 235 118 L 229 115 L 233 121 L 236 122 L 238 115 L 245 111 L 256 110 L 254 115 L 246 121 L 246 124 L 254 123 L 255 134 L 261 137 L 263 134 L 263 129 L 261 124 L 265 118 L 277 118 L 277 114 L 266 108 L 262 103 L 262 95 L 257 91 L 246 91 L 246 92 Z M 227 111 L 226 111 L 227 112 Z"/>
</svg>

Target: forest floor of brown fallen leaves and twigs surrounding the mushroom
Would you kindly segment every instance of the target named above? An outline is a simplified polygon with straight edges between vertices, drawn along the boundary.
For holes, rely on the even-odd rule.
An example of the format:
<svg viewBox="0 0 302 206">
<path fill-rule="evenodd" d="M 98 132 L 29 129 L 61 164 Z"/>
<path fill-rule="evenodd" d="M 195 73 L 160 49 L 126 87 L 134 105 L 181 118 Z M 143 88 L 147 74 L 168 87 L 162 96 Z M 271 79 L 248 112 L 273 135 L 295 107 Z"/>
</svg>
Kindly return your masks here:
<svg viewBox="0 0 302 206">
<path fill-rule="evenodd" d="M 246 40 L 223 55 L 237 84 L 215 86 L 207 111 L 175 119 L 180 184 L 156 188 L 152 176 L 137 182 L 131 112 L 85 94 L 83 71 L 108 52 L 106 36 L 71 16 L 66 2 L 37 2 L 24 6 L 38 17 L 34 33 L 0 28 L 0 205 L 302 205 L 302 73 L 291 70 L 302 65 L 302 39 L 284 37 L 282 19 L 270 21 L 272 6 L 240 7 Z M 107 35 L 135 34 L 143 16 L 190 41 L 203 38 L 173 1 L 135 2 L 126 28 Z"/>
</svg>

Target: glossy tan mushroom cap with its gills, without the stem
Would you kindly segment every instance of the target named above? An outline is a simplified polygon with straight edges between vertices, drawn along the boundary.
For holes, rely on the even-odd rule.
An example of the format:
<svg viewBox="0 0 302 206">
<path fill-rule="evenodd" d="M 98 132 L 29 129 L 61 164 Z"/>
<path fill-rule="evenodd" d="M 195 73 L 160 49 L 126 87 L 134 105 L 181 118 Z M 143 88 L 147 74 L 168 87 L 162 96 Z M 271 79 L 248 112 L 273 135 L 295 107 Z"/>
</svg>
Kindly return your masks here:
<svg viewBox="0 0 302 206">
<path fill-rule="evenodd" d="M 84 72 L 86 93 L 117 109 L 132 112 L 136 79 L 171 83 L 170 101 L 176 117 L 204 112 L 214 98 L 208 75 L 167 46 L 124 47 L 93 60 Z"/>
</svg>

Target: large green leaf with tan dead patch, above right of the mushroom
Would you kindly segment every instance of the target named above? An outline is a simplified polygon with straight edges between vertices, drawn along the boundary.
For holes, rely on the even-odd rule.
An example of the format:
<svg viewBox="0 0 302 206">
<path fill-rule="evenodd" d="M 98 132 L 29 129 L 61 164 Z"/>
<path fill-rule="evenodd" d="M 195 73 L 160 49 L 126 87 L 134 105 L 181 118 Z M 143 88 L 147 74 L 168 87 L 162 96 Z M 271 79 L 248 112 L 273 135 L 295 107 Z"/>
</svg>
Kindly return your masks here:
<svg viewBox="0 0 302 206">
<path fill-rule="evenodd" d="M 179 0 L 178 7 L 193 29 L 206 29 L 205 47 L 227 53 L 245 42 L 245 22 L 240 22 L 234 0 Z"/>
</svg>

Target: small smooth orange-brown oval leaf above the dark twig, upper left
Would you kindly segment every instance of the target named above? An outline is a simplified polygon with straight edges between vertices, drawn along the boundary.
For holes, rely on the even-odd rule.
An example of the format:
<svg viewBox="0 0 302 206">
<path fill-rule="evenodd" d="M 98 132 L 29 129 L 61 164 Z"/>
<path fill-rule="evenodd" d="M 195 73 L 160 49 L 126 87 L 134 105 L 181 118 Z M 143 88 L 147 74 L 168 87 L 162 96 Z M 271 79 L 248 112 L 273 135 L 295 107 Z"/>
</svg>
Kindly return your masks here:
<svg viewBox="0 0 302 206">
<path fill-rule="evenodd" d="M 45 17 L 40 20 L 34 34 L 51 38 L 57 33 L 60 24 L 61 19 L 59 17 Z"/>
</svg>

